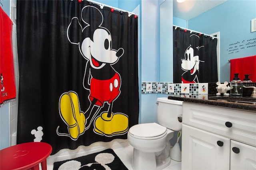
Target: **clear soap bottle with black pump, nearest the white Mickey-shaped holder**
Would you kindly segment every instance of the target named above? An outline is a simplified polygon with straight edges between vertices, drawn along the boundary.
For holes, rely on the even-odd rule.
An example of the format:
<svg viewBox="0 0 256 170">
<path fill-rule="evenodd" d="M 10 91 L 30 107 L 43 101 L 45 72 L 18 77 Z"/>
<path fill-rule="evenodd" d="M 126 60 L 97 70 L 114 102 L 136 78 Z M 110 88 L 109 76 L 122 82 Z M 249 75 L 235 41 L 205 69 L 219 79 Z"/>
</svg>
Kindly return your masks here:
<svg viewBox="0 0 256 170">
<path fill-rule="evenodd" d="M 242 98 L 242 81 L 238 77 L 239 73 L 234 74 L 233 80 L 230 82 L 230 97 Z"/>
</svg>

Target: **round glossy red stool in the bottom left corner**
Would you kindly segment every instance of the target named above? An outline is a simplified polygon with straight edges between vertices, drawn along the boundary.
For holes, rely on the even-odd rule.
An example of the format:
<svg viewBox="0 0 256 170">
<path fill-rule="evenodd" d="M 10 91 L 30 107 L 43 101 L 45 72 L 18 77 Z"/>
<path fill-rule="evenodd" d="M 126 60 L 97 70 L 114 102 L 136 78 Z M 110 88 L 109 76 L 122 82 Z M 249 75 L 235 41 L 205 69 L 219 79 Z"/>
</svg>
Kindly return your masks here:
<svg viewBox="0 0 256 170">
<path fill-rule="evenodd" d="M 1 170 L 47 170 L 46 158 L 52 147 L 44 142 L 29 142 L 0 150 Z"/>
</svg>

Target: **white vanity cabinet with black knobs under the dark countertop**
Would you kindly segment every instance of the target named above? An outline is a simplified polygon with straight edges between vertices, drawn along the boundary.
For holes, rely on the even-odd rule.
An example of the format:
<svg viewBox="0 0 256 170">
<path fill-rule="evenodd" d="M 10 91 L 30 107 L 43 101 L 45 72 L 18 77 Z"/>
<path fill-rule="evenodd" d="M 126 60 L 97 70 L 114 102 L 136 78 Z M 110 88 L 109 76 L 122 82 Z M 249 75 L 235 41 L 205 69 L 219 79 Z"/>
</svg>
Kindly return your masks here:
<svg viewBox="0 0 256 170">
<path fill-rule="evenodd" d="M 183 102 L 182 170 L 256 170 L 256 111 Z"/>
</svg>

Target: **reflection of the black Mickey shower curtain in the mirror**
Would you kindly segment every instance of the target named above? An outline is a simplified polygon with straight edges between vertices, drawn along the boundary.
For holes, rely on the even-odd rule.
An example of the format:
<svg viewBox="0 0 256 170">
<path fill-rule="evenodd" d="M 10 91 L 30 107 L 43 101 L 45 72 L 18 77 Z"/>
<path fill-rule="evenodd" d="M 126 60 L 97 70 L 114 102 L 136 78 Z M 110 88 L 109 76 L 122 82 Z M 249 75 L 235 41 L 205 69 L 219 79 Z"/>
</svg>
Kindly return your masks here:
<svg viewBox="0 0 256 170">
<path fill-rule="evenodd" d="M 217 39 L 173 27 L 173 82 L 217 82 Z"/>
</svg>

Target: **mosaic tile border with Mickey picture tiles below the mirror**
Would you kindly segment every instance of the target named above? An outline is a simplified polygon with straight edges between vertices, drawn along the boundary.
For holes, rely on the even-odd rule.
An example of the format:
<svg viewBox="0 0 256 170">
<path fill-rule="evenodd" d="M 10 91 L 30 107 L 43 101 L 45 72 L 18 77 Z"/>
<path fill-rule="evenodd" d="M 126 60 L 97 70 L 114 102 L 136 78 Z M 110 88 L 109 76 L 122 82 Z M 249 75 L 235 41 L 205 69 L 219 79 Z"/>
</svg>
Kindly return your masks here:
<svg viewBox="0 0 256 170">
<path fill-rule="evenodd" d="M 208 94 L 208 83 L 142 82 L 142 94 L 170 94 L 198 96 Z"/>
</svg>

